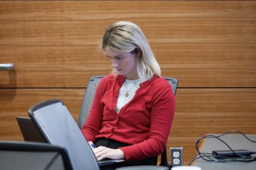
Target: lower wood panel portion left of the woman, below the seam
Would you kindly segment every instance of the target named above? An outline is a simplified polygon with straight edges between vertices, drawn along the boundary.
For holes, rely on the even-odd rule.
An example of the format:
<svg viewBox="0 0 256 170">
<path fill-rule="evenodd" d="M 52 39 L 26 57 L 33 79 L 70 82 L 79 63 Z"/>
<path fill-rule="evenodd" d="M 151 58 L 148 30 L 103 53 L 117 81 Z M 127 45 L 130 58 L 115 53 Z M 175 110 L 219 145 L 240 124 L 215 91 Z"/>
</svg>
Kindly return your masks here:
<svg viewBox="0 0 256 170">
<path fill-rule="evenodd" d="M 16 116 L 29 117 L 33 105 L 61 99 L 77 121 L 85 89 L 0 89 L 0 140 L 23 140 Z"/>
</svg>

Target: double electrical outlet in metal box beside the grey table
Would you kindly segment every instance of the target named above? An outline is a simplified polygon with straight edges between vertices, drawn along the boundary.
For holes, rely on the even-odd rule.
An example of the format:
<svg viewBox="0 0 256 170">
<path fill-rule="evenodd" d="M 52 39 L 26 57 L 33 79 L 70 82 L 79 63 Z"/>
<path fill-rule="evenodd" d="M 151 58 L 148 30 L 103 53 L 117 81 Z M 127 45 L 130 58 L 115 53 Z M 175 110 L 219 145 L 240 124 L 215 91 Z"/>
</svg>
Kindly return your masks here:
<svg viewBox="0 0 256 170">
<path fill-rule="evenodd" d="M 182 147 L 170 147 L 170 163 L 172 167 L 183 165 L 183 148 Z"/>
</svg>

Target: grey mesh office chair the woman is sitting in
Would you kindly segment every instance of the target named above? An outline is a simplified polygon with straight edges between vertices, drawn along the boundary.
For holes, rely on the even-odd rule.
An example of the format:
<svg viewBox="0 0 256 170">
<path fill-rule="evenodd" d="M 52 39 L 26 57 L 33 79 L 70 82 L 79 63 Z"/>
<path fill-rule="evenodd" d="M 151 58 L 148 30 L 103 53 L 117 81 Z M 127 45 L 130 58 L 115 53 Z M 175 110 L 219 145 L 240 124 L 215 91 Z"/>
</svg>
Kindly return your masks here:
<svg viewBox="0 0 256 170">
<path fill-rule="evenodd" d="M 88 114 L 90 112 L 90 109 L 92 107 L 93 104 L 93 99 L 95 96 L 95 92 L 96 92 L 96 88 L 99 85 L 99 82 L 101 81 L 101 79 L 104 76 L 95 76 L 95 77 L 91 77 L 89 79 L 89 82 L 87 84 L 87 88 L 84 94 L 84 99 L 81 105 L 81 111 L 80 111 L 80 115 L 79 115 L 79 119 L 78 119 L 78 126 L 81 129 L 82 126 L 84 125 L 84 123 L 86 122 L 86 119 L 88 117 Z M 174 93 L 174 95 L 176 94 L 177 91 L 177 85 L 178 85 L 178 80 L 175 78 L 171 78 L 171 77 L 163 77 L 164 79 L 166 79 L 171 87 L 172 87 L 172 91 Z M 157 156 L 155 159 L 155 165 L 157 165 Z M 167 152 L 166 152 L 166 148 L 163 151 L 163 153 L 161 154 L 161 163 L 160 166 L 166 166 L 169 167 L 168 165 L 168 161 L 167 161 Z"/>
</svg>

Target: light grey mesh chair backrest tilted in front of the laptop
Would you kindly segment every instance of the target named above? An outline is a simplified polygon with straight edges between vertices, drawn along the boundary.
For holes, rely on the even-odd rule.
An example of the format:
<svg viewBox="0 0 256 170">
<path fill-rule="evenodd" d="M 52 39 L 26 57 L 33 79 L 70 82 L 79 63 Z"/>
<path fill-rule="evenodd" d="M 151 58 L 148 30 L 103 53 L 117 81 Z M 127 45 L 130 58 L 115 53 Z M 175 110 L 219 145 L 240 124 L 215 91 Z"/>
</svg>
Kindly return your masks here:
<svg viewBox="0 0 256 170">
<path fill-rule="evenodd" d="M 99 170 L 90 145 L 64 102 L 59 99 L 41 102 L 29 109 L 29 116 L 45 141 L 67 149 L 75 170 Z"/>
</svg>

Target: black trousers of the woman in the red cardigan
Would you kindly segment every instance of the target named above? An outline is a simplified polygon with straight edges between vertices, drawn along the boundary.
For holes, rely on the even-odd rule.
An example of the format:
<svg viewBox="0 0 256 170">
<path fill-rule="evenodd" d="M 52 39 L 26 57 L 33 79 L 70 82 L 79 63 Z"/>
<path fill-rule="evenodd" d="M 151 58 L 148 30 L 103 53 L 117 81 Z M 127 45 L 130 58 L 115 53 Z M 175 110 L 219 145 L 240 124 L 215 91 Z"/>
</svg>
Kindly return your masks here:
<svg viewBox="0 0 256 170">
<path fill-rule="evenodd" d="M 105 146 L 111 149 L 117 149 L 119 147 L 129 146 L 129 144 L 125 144 L 122 142 L 117 142 L 117 141 L 114 141 L 111 139 L 105 139 L 105 138 L 98 139 L 95 145 L 96 147 Z M 100 169 L 114 170 L 118 167 L 137 166 L 137 165 L 154 165 L 154 160 L 155 160 L 155 156 L 147 159 L 142 159 L 142 160 L 124 161 L 116 164 L 104 165 L 104 166 L 101 166 Z"/>
</svg>

